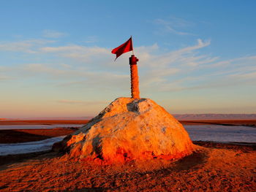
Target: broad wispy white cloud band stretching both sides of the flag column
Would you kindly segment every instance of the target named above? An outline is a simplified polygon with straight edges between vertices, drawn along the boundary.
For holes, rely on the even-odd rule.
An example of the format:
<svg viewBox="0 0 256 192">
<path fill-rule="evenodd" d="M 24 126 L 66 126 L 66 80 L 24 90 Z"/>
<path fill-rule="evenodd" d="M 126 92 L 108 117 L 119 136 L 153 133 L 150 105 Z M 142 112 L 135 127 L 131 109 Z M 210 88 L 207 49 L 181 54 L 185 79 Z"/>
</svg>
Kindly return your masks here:
<svg viewBox="0 0 256 192">
<path fill-rule="evenodd" d="M 45 81 L 52 82 L 50 85 L 56 88 L 111 90 L 116 91 L 115 93 L 122 93 L 129 88 L 127 55 L 113 62 L 114 55 L 111 55 L 110 49 L 106 47 L 50 47 L 44 46 L 43 41 L 33 42 L 32 45 L 32 50 L 37 53 L 45 54 L 46 57 L 54 55 L 53 63 L 16 66 L 5 73 L 8 77 L 44 78 Z M 37 45 L 37 49 L 34 45 Z M 135 47 L 135 55 L 140 59 L 140 88 L 143 91 L 154 90 L 160 93 L 255 83 L 255 55 L 225 61 L 217 56 L 200 53 L 201 49 L 209 45 L 210 40 L 197 39 L 195 45 L 169 52 L 162 51 L 157 44 Z"/>
</svg>

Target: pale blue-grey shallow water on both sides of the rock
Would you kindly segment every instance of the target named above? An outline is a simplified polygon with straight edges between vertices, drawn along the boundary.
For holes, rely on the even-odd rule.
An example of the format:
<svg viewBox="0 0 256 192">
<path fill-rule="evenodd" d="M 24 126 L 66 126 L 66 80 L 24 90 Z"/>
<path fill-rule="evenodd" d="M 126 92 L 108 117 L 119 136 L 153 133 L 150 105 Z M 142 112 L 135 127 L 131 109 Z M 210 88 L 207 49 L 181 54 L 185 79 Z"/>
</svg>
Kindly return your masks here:
<svg viewBox="0 0 256 192">
<path fill-rule="evenodd" d="M 33 125 L 33 126 L 7 126 L 8 129 L 15 128 L 56 128 L 56 127 L 81 127 L 83 125 Z M 0 129 L 4 129 L 0 126 Z M 185 125 L 192 141 L 213 142 L 256 142 L 256 128 L 249 126 L 221 126 L 221 125 Z M 59 142 L 62 137 L 54 137 L 39 142 L 23 142 L 18 144 L 0 144 L 0 155 L 32 153 L 50 150 L 54 142 Z"/>
</svg>

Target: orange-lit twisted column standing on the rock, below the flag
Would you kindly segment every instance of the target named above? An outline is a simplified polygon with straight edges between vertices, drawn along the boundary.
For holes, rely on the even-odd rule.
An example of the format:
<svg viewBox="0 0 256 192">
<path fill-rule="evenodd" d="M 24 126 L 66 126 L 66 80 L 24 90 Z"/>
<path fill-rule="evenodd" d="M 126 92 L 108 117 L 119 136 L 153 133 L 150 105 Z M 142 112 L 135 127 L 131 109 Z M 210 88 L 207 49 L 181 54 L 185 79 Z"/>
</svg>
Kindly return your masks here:
<svg viewBox="0 0 256 192">
<path fill-rule="evenodd" d="M 131 93 L 132 93 L 133 99 L 140 98 L 137 61 L 139 61 L 139 59 L 136 58 L 135 55 L 132 55 L 129 58 L 129 66 L 130 66 L 130 71 L 131 71 Z"/>
</svg>

